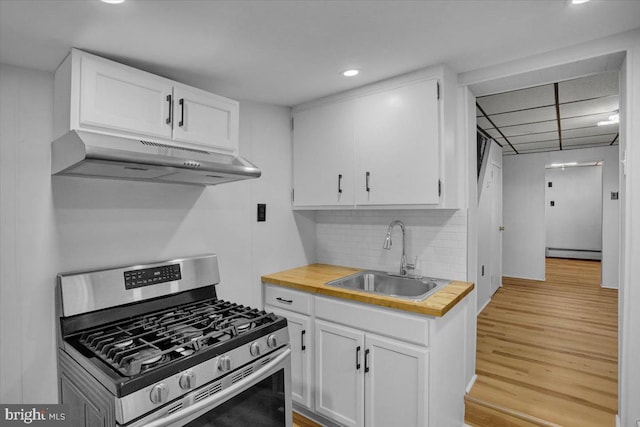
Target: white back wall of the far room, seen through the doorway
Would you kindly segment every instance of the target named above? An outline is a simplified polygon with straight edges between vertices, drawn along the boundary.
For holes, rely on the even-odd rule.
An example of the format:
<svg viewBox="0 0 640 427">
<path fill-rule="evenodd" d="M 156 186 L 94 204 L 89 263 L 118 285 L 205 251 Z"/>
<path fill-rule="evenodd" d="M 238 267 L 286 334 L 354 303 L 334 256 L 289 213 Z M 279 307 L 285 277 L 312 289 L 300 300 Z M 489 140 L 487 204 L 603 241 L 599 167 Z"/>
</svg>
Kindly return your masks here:
<svg viewBox="0 0 640 427">
<path fill-rule="evenodd" d="M 547 169 L 544 189 L 545 247 L 601 251 L 602 166 Z"/>
</svg>

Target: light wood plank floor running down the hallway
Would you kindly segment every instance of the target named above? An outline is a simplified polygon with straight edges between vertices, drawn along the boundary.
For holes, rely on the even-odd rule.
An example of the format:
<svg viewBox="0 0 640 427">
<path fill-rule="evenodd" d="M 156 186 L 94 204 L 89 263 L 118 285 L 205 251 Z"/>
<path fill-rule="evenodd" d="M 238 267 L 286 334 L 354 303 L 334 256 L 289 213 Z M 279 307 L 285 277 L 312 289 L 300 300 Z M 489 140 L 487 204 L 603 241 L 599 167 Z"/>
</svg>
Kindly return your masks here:
<svg viewBox="0 0 640 427">
<path fill-rule="evenodd" d="M 615 426 L 618 292 L 600 262 L 547 259 L 545 282 L 504 278 L 478 316 L 469 425 Z"/>
</svg>

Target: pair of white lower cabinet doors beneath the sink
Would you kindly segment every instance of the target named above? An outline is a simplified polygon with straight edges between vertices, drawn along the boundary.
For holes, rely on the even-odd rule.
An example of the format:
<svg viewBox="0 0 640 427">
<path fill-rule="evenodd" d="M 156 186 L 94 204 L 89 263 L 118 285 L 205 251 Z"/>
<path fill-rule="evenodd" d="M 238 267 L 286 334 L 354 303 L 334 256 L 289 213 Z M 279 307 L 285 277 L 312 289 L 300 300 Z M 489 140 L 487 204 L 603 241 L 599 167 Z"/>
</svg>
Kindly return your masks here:
<svg viewBox="0 0 640 427">
<path fill-rule="evenodd" d="M 316 320 L 316 412 L 345 426 L 426 426 L 428 351 Z"/>
</svg>

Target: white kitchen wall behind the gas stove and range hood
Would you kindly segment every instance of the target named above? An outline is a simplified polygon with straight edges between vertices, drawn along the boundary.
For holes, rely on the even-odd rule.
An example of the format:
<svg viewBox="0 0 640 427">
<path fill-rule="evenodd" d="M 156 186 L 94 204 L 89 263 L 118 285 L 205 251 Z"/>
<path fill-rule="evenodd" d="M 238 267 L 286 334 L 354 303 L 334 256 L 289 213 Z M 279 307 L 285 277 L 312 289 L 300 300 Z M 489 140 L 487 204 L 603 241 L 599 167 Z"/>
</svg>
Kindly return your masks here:
<svg viewBox="0 0 640 427">
<path fill-rule="evenodd" d="M 57 401 L 59 272 L 213 252 L 219 295 L 259 306 L 259 274 L 314 261 L 315 226 L 290 212 L 288 108 L 241 103 L 240 152 L 264 178 L 201 188 L 52 179 L 53 75 L 2 65 L 0 94 L 1 402 Z"/>
</svg>

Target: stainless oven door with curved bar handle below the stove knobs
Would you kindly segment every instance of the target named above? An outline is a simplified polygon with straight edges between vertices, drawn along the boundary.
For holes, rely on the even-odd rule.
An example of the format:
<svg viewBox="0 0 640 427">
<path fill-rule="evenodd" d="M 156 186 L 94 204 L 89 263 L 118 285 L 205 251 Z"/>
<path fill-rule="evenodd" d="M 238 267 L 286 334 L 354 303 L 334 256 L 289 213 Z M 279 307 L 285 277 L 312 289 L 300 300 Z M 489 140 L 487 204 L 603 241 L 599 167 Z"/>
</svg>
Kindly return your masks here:
<svg viewBox="0 0 640 427">
<path fill-rule="evenodd" d="M 230 387 L 162 418 L 149 420 L 150 414 L 131 427 L 291 427 L 291 349 L 279 352 Z"/>
</svg>

